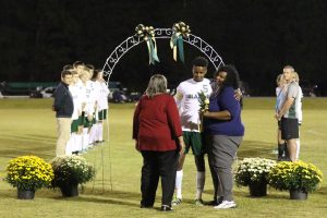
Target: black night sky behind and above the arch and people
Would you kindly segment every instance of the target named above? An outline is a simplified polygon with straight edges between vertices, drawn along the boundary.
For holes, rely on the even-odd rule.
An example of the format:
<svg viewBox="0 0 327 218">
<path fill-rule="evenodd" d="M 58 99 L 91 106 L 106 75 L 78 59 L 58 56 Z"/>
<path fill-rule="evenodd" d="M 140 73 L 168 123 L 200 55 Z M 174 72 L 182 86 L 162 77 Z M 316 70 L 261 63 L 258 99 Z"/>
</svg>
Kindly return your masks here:
<svg viewBox="0 0 327 218">
<path fill-rule="evenodd" d="M 274 95 L 275 78 L 292 64 L 300 78 L 327 95 L 327 5 L 324 0 L 0 0 L 0 82 L 52 82 L 62 65 L 82 60 L 102 68 L 137 24 L 171 27 L 183 21 L 234 64 L 253 95 Z M 191 77 L 201 52 L 185 45 L 175 63 L 169 40 L 158 41 L 160 64 L 148 66 L 145 44 L 131 49 L 111 81 L 144 89 L 161 72 L 171 84 Z M 211 76 L 214 68 L 209 68 Z"/>
</svg>

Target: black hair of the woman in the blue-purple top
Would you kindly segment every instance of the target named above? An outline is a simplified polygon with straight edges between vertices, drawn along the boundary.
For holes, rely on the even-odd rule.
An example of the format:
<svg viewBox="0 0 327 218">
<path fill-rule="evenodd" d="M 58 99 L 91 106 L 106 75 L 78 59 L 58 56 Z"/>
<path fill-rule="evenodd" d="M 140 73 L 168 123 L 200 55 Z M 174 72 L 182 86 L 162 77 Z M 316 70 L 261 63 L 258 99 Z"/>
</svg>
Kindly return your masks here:
<svg viewBox="0 0 327 218">
<path fill-rule="evenodd" d="M 222 86 L 232 86 L 234 89 L 240 87 L 240 76 L 237 68 L 231 64 L 221 65 L 218 71 L 215 73 L 215 77 L 218 75 L 219 72 L 226 72 L 226 78 L 223 81 Z M 222 87 L 222 88 L 223 88 Z"/>
</svg>

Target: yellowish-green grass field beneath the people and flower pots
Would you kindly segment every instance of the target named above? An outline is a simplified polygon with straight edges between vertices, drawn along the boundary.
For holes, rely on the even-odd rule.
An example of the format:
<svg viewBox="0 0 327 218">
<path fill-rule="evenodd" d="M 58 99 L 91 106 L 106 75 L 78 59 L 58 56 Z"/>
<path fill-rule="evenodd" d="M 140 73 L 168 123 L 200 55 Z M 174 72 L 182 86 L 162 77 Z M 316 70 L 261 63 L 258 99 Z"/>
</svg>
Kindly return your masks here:
<svg viewBox="0 0 327 218">
<path fill-rule="evenodd" d="M 242 119 L 244 141 L 239 158 L 275 158 L 277 123 L 275 98 L 245 98 Z M 62 198 L 58 190 L 39 190 L 34 201 L 16 199 L 16 190 L 2 181 L 11 158 L 36 155 L 51 160 L 55 155 L 56 119 L 50 99 L 0 100 L 0 217 L 166 217 L 156 209 L 140 209 L 142 157 L 134 149 L 132 116 L 134 105 L 111 105 L 109 144 L 96 147 L 85 157 L 95 165 L 97 177 L 80 190 L 77 198 Z M 305 98 L 301 126 L 301 159 L 327 174 L 327 99 Z M 107 132 L 107 129 L 106 129 Z M 106 136 L 107 138 L 107 136 Z M 206 175 L 204 199 L 213 197 L 210 174 Z M 327 182 L 310 193 L 307 201 L 290 201 L 288 192 L 268 190 L 266 197 L 249 196 L 247 187 L 234 187 L 237 209 L 214 210 L 195 207 L 195 166 L 189 155 L 184 166 L 183 204 L 170 217 L 327 217 Z M 161 191 L 155 207 L 160 206 Z"/>
</svg>

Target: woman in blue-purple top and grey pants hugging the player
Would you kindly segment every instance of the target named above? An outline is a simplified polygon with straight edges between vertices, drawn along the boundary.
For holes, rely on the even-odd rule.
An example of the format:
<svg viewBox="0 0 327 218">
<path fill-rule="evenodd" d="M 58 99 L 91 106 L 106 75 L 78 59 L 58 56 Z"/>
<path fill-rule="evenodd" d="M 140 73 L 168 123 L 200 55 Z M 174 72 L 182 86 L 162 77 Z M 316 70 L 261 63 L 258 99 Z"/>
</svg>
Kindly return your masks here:
<svg viewBox="0 0 327 218">
<path fill-rule="evenodd" d="M 237 207 L 233 201 L 231 166 L 244 135 L 241 105 L 234 97 L 239 88 L 238 71 L 231 65 L 219 68 L 217 89 L 209 99 L 209 110 L 203 113 L 207 135 L 208 159 L 215 186 L 217 209 Z"/>
</svg>

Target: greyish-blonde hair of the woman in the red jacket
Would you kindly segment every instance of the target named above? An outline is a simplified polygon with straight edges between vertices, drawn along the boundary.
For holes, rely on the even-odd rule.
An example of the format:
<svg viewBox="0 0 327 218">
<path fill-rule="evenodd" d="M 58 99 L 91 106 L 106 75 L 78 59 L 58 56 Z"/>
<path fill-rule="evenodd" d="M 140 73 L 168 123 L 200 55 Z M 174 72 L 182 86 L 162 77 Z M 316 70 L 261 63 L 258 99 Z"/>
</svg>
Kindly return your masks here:
<svg viewBox="0 0 327 218">
<path fill-rule="evenodd" d="M 153 98 L 155 95 L 167 92 L 167 78 L 162 74 L 155 74 L 150 77 L 145 94 Z"/>
</svg>

